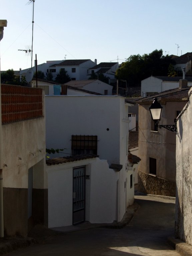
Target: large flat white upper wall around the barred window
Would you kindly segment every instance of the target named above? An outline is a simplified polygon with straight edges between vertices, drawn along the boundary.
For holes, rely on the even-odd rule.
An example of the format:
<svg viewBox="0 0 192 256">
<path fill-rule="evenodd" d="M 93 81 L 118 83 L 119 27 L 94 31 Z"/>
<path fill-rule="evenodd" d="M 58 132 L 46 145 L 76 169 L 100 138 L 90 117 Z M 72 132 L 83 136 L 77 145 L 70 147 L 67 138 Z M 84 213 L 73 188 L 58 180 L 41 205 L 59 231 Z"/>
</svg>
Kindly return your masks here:
<svg viewBox="0 0 192 256">
<path fill-rule="evenodd" d="M 123 97 L 61 95 L 46 96 L 45 102 L 47 148 L 60 148 L 71 154 L 71 135 L 97 135 L 100 158 L 109 164 L 120 163 L 120 126 L 125 123 L 120 118 L 120 106 L 125 109 Z M 121 117 L 128 121 L 128 109 Z M 126 158 L 126 148 L 123 150 Z M 51 157 L 62 157 L 63 153 Z"/>
</svg>

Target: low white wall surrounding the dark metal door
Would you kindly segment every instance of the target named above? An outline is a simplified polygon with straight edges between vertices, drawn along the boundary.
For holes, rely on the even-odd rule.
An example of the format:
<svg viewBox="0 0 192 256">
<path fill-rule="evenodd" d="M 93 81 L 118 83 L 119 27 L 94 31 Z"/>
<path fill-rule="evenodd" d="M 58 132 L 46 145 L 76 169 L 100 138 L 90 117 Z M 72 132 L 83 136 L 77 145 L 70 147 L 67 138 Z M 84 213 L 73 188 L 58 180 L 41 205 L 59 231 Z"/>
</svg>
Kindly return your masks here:
<svg viewBox="0 0 192 256">
<path fill-rule="evenodd" d="M 106 160 L 86 159 L 47 166 L 48 227 L 72 225 L 73 168 L 86 166 L 86 221 L 112 223 L 116 219 L 116 183 L 118 173 L 109 169 Z M 118 207 L 118 206 L 117 206 Z"/>
</svg>

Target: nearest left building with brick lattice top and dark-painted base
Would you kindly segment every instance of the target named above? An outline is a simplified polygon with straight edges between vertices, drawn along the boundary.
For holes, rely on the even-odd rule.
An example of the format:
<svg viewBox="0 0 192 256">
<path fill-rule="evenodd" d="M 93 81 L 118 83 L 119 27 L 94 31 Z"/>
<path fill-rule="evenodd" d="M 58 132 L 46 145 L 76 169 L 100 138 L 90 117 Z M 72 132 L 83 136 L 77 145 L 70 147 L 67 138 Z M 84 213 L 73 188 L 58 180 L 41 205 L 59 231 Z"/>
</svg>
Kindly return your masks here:
<svg viewBox="0 0 192 256">
<path fill-rule="evenodd" d="M 1 84 L 1 99 L 4 236 L 25 237 L 36 223 L 47 224 L 44 92 Z"/>
</svg>

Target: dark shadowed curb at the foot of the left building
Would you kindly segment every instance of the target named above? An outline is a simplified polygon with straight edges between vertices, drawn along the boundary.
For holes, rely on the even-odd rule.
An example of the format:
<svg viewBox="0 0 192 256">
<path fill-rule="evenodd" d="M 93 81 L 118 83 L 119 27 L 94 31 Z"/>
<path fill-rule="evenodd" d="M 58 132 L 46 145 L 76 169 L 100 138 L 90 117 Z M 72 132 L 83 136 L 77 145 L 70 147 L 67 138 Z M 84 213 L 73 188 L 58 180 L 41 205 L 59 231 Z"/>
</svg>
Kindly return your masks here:
<svg viewBox="0 0 192 256">
<path fill-rule="evenodd" d="M 7 254 L 20 248 L 27 247 L 32 244 L 37 244 L 34 238 L 3 238 L 0 239 L 0 255 Z"/>
</svg>

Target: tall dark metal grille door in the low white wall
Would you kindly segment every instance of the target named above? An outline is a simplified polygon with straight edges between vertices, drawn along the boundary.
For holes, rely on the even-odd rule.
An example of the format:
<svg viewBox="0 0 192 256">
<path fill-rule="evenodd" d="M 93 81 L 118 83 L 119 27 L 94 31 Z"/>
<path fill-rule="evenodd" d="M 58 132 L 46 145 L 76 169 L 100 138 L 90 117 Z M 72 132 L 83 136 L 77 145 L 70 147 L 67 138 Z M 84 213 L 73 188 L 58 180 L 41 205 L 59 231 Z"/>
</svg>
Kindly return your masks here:
<svg viewBox="0 0 192 256">
<path fill-rule="evenodd" d="M 73 225 L 85 221 L 85 166 L 73 169 Z"/>
</svg>

